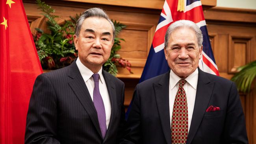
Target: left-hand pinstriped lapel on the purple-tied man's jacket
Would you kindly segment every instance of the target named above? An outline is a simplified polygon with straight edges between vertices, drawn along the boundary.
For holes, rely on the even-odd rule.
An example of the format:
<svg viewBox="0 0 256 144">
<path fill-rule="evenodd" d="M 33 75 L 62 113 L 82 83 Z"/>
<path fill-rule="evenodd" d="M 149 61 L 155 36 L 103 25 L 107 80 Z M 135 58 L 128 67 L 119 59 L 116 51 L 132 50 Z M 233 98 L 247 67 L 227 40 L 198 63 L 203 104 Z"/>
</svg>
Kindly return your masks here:
<svg viewBox="0 0 256 144">
<path fill-rule="evenodd" d="M 102 137 L 101 131 L 100 131 L 100 125 L 98 123 L 97 111 L 93 104 L 93 100 L 91 99 L 90 93 L 82 78 L 82 75 L 80 74 L 80 71 L 76 65 L 76 61 L 74 61 L 69 66 L 69 77 L 72 78 L 72 80 L 69 81 L 69 86 L 76 94 L 76 97 L 78 98 L 80 103 L 83 105 L 83 108 L 85 109 L 85 111 L 89 114 L 89 117 L 91 118 L 99 135 Z"/>
</svg>

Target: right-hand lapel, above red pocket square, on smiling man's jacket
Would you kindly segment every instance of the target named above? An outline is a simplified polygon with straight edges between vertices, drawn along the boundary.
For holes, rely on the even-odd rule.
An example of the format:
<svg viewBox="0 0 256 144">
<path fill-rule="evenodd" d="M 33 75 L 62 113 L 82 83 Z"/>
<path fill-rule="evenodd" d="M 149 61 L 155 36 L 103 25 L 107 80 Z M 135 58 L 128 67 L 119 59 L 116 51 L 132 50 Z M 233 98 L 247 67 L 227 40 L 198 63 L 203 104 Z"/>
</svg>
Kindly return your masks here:
<svg viewBox="0 0 256 144">
<path fill-rule="evenodd" d="M 197 133 L 197 129 L 202 121 L 206 108 L 211 98 L 214 82 L 206 76 L 205 72 L 198 68 L 197 94 L 190 124 L 187 144 L 190 144 Z"/>
</svg>

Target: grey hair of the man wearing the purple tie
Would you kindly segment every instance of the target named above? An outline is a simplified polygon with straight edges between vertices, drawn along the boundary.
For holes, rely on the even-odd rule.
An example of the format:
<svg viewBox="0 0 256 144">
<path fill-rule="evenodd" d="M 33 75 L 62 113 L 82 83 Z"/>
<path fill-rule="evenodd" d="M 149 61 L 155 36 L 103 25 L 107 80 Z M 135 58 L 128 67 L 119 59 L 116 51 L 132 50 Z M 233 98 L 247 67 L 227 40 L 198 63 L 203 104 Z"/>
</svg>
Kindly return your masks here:
<svg viewBox="0 0 256 144">
<path fill-rule="evenodd" d="M 108 20 L 108 22 L 111 24 L 112 29 L 113 29 L 113 41 L 114 41 L 114 38 L 115 38 L 115 26 L 114 26 L 113 22 L 109 19 L 108 14 L 103 9 L 98 8 L 98 7 L 87 9 L 78 18 L 78 20 L 76 21 L 76 30 L 75 30 L 75 33 L 76 33 L 77 37 L 79 37 L 83 21 L 86 18 L 89 18 L 89 17 L 105 18 L 106 20 Z"/>
</svg>

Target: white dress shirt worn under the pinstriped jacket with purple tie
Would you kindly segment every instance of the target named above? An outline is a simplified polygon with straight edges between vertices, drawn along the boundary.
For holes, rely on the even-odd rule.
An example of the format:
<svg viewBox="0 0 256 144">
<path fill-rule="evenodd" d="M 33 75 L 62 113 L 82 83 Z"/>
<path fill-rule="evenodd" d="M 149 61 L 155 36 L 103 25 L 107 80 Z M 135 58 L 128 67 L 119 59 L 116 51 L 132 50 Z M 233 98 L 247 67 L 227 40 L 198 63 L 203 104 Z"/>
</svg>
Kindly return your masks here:
<svg viewBox="0 0 256 144">
<path fill-rule="evenodd" d="M 94 80 L 93 80 L 93 72 L 84 66 L 82 62 L 80 61 L 79 57 L 76 60 L 76 65 L 83 77 L 83 80 L 85 81 L 85 85 L 90 93 L 91 100 L 93 100 L 93 89 L 94 89 Z M 100 70 L 97 72 L 100 75 L 99 79 L 99 89 L 100 89 L 100 95 L 102 97 L 104 107 L 105 107 L 105 112 L 106 112 L 106 125 L 108 129 L 109 121 L 110 121 L 110 115 L 111 115 L 111 103 L 109 99 L 109 94 L 108 94 L 108 89 L 106 82 L 104 80 L 104 77 L 102 75 L 102 67 Z"/>
</svg>

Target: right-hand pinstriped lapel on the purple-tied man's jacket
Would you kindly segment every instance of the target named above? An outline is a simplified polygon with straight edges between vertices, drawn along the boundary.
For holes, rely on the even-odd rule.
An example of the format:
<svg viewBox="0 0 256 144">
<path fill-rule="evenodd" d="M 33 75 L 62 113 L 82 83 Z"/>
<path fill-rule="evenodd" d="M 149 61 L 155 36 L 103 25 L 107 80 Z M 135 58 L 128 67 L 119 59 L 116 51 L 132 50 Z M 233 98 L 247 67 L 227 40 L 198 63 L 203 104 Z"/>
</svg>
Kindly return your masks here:
<svg viewBox="0 0 256 144">
<path fill-rule="evenodd" d="M 108 126 L 108 130 L 106 132 L 106 136 L 104 138 L 104 141 L 106 141 L 109 137 L 109 135 L 111 134 L 111 131 L 109 131 L 109 129 L 111 129 L 111 127 L 113 126 L 114 122 L 115 122 L 115 114 L 117 112 L 117 98 L 116 98 L 116 90 L 115 90 L 115 85 L 113 83 L 113 81 L 111 80 L 111 78 L 109 77 L 109 74 L 105 71 L 102 70 L 102 75 L 105 79 L 106 85 L 107 85 L 107 89 L 108 89 L 108 94 L 109 94 L 109 99 L 111 102 L 111 116 L 110 116 L 110 122 L 109 122 L 109 126 Z M 103 141 L 103 143 L 104 143 Z"/>
</svg>

